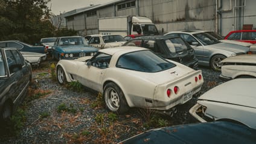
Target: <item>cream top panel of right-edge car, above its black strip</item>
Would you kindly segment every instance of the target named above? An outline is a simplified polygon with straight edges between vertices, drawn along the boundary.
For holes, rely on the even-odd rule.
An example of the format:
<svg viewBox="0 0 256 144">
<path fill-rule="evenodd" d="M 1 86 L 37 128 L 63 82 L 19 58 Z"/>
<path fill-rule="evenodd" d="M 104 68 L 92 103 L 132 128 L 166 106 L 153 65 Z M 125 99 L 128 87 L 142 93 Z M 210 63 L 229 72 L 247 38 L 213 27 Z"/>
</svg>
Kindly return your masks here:
<svg viewBox="0 0 256 144">
<path fill-rule="evenodd" d="M 256 55 L 255 54 L 244 54 L 244 55 L 236 55 L 234 57 L 227 57 L 222 60 L 222 63 L 256 63 Z"/>
</svg>

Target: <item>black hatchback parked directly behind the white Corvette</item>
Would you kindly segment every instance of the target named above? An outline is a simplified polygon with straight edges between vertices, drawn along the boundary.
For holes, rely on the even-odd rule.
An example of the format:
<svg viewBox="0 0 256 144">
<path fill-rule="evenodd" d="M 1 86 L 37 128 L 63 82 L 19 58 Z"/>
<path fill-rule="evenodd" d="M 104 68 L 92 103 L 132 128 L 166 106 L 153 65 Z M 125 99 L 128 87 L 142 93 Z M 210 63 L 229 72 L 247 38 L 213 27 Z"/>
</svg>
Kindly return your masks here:
<svg viewBox="0 0 256 144">
<path fill-rule="evenodd" d="M 181 37 L 141 36 L 129 40 L 123 46 L 148 48 L 163 58 L 178 61 L 193 69 L 198 67 L 198 60 L 194 56 L 194 49 Z"/>
</svg>

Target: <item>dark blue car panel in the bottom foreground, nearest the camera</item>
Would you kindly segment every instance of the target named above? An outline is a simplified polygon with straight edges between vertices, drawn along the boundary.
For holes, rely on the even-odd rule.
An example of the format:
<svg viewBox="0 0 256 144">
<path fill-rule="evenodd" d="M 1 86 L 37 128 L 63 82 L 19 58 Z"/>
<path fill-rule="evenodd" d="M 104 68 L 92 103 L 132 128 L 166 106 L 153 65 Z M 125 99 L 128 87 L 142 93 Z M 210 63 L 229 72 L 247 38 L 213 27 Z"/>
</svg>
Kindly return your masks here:
<svg viewBox="0 0 256 144">
<path fill-rule="evenodd" d="M 120 143 L 255 143 L 255 134 L 245 125 L 218 121 L 156 128 Z"/>
</svg>

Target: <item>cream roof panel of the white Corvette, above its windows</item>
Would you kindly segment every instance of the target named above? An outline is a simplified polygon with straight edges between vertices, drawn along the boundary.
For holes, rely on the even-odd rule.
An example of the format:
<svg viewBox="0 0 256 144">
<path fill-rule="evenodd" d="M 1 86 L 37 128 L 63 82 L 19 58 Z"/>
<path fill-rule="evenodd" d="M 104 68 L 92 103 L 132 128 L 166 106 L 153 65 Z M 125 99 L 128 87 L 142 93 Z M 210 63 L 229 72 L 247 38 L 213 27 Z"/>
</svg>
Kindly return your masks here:
<svg viewBox="0 0 256 144">
<path fill-rule="evenodd" d="M 114 47 L 114 48 L 100 49 L 99 52 L 103 52 L 103 53 L 109 54 L 109 55 L 114 55 L 117 52 L 120 54 L 126 54 L 129 52 L 143 51 L 143 50 L 149 50 L 149 49 L 141 48 L 138 46 L 119 46 L 119 47 Z"/>
</svg>

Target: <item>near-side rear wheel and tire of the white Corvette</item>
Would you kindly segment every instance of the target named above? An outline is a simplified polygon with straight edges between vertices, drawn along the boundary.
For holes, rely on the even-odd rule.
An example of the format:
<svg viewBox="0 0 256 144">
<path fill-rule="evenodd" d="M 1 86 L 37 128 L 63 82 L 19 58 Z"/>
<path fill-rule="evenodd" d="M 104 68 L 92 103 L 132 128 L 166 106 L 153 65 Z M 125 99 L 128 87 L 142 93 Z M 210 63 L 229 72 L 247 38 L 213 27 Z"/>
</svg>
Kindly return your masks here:
<svg viewBox="0 0 256 144">
<path fill-rule="evenodd" d="M 124 93 L 114 83 L 107 83 L 104 87 L 104 100 L 106 107 L 115 113 L 123 114 L 129 110 L 129 106 L 124 98 Z"/>
</svg>

